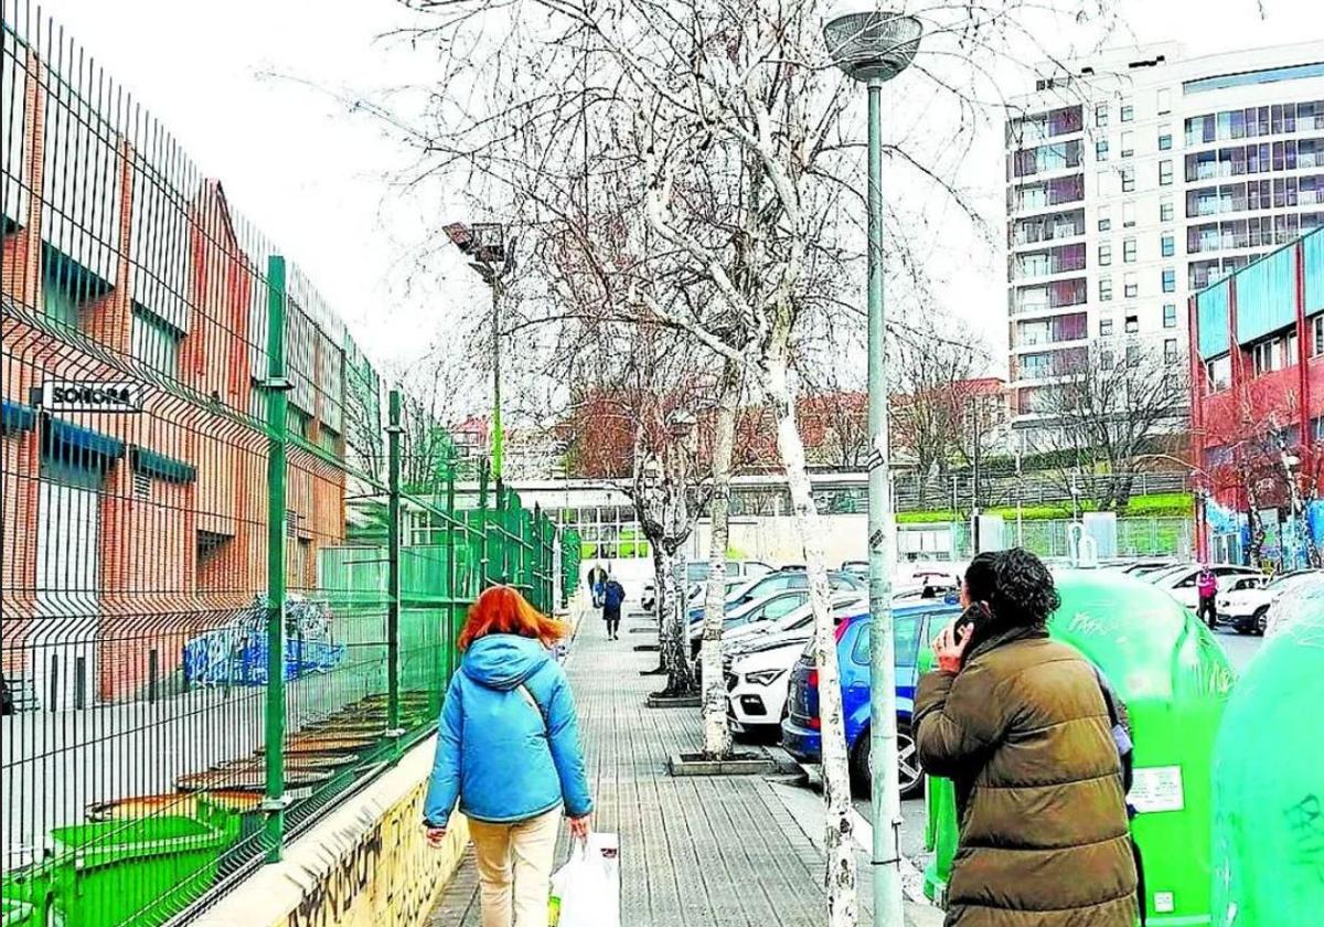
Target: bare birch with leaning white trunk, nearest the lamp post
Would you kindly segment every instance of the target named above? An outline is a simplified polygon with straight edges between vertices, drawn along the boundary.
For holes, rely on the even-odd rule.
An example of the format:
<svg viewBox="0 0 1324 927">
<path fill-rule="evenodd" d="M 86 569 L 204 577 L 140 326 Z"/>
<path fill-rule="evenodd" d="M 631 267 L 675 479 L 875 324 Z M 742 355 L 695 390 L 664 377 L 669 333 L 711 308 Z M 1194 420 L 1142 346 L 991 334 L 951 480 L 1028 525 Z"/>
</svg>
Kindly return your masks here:
<svg viewBox="0 0 1324 927">
<path fill-rule="evenodd" d="M 438 81 L 448 93 L 433 94 L 426 124 L 401 126 L 404 136 L 418 146 L 421 176 L 449 171 L 473 183 L 477 175 L 493 199 L 526 211 L 523 221 L 545 242 L 535 246 L 534 264 L 553 281 L 528 293 L 524 309 L 542 318 L 527 323 L 683 331 L 737 367 L 772 411 L 805 547 L 825 693 L 829 922 L 854 924 L 837 650 L 793 376 L 797 332 L 818 331 L 842 313 L 858 315 L 847 293 L 862 290 L 854 279 L 863 250 L 862 144 L 842 119 L 859 95 L 828 66 L 825 3 L 413 5 L 440 13 L 436 26 L 412 38 L 441 45 Z M 1095 0 L 1062 7 L 1078 19 L 1100 9 Z M 996 91 L 986 95 L 992 58 L 1009 45 L 1019 45 L 1022 57 L 1047 57 L 1034 36 L 1051 34 L 1039 17 L 1058 11 L 1051 0 L 998 0 L 911 12 L 928 32 L 928 57 L 915 69 L 927 111 L 941 109 L 968 139 L 964 130 L 1001 102 Z M 475 91 L 451 94 L 450 85 Z M 963 150 L 932 126 L 887 147 L 915 185 L 951 193 L 973 215 L 948 180 Z M 923 264 L 907 250 L 910 238 L 890 241 L 898 266 Z M 583 344 L 561 338 L 549 354 L 581 358 Z"/>
</svg>

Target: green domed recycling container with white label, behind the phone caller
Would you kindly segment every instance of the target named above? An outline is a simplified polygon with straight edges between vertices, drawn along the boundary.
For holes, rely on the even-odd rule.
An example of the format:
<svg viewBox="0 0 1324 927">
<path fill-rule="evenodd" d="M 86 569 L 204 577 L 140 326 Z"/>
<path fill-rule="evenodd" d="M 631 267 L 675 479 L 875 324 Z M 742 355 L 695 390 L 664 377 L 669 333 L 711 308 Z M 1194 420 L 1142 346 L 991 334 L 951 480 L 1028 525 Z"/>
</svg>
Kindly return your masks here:
<svg viewBox="0 0 1324 927">
<path fill-rule="evenodd" d="M 1054 579 L 1062 608 L 1049 634 L 1094 661 L 1131 712 L 1132 834 L 1144 859 L 1147 924 L 1209 924 L 1211 761 L 1235 678 L 1227 657 L 1192 612 L 1148 583 L 1092 569 L 1059 569 Z M 928 669 L 932 653 L 923 656 Z M 933 861 L 924 887 L 943 904 L 959 836 L 952 784 L 929 777 L 927 805 Z"/>
</svg>

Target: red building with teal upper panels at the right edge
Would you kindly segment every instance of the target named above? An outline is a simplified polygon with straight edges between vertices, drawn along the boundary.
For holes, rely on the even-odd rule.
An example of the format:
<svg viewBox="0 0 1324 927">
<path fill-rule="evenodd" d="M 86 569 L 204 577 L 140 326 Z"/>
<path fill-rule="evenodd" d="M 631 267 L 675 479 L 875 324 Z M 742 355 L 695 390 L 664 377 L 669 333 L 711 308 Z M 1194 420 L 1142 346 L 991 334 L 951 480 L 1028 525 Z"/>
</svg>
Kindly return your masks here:
<svg viewBox="0 0 1324 927">
<path fill-rule="evenodd" d="M 1201 291 L 1189 319 L 1206 555 L 1319 565 L 1324 230 Z"/>
</svg>

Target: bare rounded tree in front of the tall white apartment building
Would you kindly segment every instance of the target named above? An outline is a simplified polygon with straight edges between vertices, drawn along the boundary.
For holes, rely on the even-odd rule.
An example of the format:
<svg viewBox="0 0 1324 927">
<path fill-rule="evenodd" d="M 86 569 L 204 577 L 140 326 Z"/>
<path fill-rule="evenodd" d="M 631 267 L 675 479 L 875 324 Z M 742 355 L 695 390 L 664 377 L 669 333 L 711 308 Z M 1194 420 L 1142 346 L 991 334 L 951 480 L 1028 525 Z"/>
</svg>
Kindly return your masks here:
<svg viewBox="0 0 1324 927">
<path fill-rule="evenodd" d="M 1054 355 L 1054 381 L 1035 388 L 1031 444 L 1047 473 L 1102 511 L 1131 501 L 1133 461 L 1180 434 L 1189 403 L 1185 364 L 1160 343 L 1103 339 Z M 1014 376 L 1014 373 L 1013 373 Z"/>
</svg>

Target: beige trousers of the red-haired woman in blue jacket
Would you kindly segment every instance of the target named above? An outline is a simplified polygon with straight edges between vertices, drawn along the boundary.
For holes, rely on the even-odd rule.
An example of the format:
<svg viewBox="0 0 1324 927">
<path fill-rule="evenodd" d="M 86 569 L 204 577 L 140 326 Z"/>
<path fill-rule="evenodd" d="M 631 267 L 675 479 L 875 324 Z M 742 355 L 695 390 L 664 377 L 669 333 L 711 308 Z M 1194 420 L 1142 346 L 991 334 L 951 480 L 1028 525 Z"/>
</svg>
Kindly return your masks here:
<svg viewBox="0 0 1324 927">
<path fill-rule="evenodd" d="M 515 824 L 469 821 L 483 927 L 547 927 L 561 809 Z"/>
</svg>

